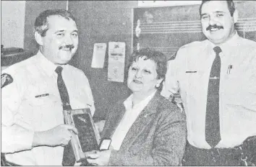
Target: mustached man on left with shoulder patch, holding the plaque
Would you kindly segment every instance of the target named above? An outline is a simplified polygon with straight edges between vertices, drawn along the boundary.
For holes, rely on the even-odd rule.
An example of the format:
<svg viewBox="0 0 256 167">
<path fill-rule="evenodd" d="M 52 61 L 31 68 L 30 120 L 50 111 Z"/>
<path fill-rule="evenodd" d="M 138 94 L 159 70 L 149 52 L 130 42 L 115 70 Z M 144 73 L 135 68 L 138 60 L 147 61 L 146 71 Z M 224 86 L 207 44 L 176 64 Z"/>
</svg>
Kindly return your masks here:
<svg viewBox="0 0 256 167">
<path fill-rule="evenodd" d="M 88 78 L 67 64 L 78 47 L 77 24 L 70 12 L 51 9 L 39 14 L 34 29 L 38 53 L 2 71 L 1 153 L 22 166 L 74 165 L 62 163 L 64 146 L 77 134 L 64 125 L 62 111 L 95 111 Z"/>
</svg>

